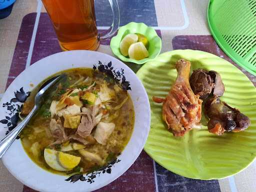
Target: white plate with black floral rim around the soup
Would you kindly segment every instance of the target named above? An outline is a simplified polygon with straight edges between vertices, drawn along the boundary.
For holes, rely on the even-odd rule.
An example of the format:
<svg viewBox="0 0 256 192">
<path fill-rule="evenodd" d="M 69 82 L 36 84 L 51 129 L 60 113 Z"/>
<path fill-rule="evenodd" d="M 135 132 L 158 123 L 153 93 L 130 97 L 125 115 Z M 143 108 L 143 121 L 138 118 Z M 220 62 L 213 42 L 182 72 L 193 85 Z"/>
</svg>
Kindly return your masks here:
<svg viewBox="0 0 256 192">
<path fill-rule="evenodd" d="M 128 88 L 135 112 L 132 135 L 124 150 L 108 166 L 94 172 L 58 175 L 36 165 L 16 139 L 2 157 L 9 172 L 38 191 L 92 191 L 123 174 L 136 160 L 146 141 L 150 126 L 150 106 L 146 91 L 135 73 L 116 58 L 96 51 L 72 50 L 47 56 L 21 72 L 9 85 L 0 101 L 0 138 L 17 124 L 18 112 L 29 92 L 48 76 L 70 68 L 108 69 Z M 68 178 L 69 177 L 69 178 Z"/>
</svg>

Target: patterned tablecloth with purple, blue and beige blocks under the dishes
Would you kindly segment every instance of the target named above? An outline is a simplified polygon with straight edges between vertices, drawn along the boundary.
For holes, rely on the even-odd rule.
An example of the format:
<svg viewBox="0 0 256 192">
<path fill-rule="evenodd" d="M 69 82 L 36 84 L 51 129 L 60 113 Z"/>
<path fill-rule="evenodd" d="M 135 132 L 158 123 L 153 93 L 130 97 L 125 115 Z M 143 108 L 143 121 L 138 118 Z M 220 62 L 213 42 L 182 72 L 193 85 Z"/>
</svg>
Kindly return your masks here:
<svg viewBox="0 0 256 192">
<path fill-rule="evenodd" d="M 198 49 L 230 61 L 215 43 L 206 22 L 208 0 L 118 0 L 120 25 L 130 21 L 153 26 L 162 39 L 162 50 Z M 95 0 L 99 30 L 111 24 L 107 0 Z M 112 55 L 109 40 L 101 41 L 98 51 Z M 12 13 L 0 20 L 0 93 L 26 67 L 59 52 L 60 47 L 40 0 L 17 0 Z M 233 63 L 235 66 L 237 64 Z M 129 64 L 137 71 L 140 65 Z M 239 66 L 237 66 L 241 69 Z M 255 76 L 241 69 L 256 85 Z M 97 191 L 181 191 L 253 192 L 256 191 L 256 164 L 220 180 L 189 179 L 166 170 L 144 151 L 119 178 Z M 16 180 L 0 162 L 0 191 L 32 192 Z"/>
</svg>

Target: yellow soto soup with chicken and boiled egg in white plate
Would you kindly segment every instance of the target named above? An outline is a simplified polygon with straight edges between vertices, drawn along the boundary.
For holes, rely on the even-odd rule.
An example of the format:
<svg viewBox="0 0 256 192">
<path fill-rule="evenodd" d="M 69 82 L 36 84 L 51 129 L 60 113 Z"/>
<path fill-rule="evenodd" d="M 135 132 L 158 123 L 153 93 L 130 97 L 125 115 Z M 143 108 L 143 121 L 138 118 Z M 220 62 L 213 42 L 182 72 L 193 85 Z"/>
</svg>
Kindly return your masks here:
<svg viewBox="0 0 256 192">
<path fill-rule="evenodd" d="M 21 131 L 28 156 L 48 171 L 68 175 L 106 166 L 121 153 L 134 125 L 132 100 L 121 84 L 92 68 L 73 68 Z M 59 74 L 58 73 L 58 74 Z M 34 105 L 35 88 L 20 116 Z"/>
</svg>

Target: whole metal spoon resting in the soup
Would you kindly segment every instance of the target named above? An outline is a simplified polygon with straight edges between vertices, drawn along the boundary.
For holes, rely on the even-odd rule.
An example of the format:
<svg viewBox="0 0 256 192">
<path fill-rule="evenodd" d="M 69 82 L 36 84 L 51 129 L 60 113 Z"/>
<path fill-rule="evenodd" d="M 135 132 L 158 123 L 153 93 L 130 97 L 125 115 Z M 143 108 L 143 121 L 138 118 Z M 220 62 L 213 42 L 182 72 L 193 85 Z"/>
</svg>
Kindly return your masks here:
<svg viewBox="0 0 256 192">
<path fill-rule="evenodd" d="M 43 96 L 45 96 L 45 92 L 52 87 L 54 84 L 56 84 L 57 81 L 59 81 L 61 78 L 65 76 L 64 74 L 54 76 L 48 80 L 46 80 L 39 88 L 37 94 L 34 97 L 34 107 L 32 110 L 28 113 L 28 115 L 22 120 L 13 130 L 9 132 L 1 141 L 0 141 L 0 158 L 5 153 L 5 151 L 9 148 L 9 146 L 12 144 L 12 142 L 15 140 L 17 135 L 20 133 L 20 131 L 25 127 L 25 125 L 28 123 L 30 118 L 37 112 L 37 110 L 40 108 L 40 106 L 43 103 Z"/>
</svg>

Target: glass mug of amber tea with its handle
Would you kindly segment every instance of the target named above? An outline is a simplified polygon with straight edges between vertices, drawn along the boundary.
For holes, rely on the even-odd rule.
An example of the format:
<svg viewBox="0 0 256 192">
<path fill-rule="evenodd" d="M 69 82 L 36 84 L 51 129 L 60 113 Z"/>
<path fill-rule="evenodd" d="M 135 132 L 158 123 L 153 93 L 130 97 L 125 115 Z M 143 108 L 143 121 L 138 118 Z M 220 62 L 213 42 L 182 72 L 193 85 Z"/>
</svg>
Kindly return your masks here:
<svg viewBox="0 0 256 192">
<path fill-rule="evenodd" d="M 120 13 L 117 0 L 108 0 L 113 12 L 110 28 L 99 34 L 96 26 L 94 0 L 42 0 L 62 50 L 96 50 L 99 40 L 117 30 Z"/>
</svg>

